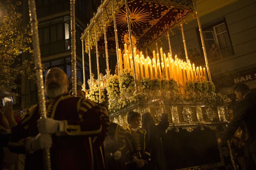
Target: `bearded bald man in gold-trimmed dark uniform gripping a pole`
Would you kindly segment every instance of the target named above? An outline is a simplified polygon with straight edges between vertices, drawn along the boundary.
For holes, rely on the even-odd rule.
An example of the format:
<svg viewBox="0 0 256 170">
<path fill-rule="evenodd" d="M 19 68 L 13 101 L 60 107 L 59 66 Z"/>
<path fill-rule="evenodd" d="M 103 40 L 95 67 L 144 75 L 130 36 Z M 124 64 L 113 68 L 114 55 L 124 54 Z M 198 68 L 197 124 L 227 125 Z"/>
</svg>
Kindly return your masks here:
<svg viewBox="0 0 256 170">
<path fill-rule="evenodd" d="M 47 118 L 30 108 L 12 128 L 9 148 L 26 153 L 26 170 L 43 170 L 42 150 L 50 147 L 52 170 L 105 170 L 103 141 L 106 109 L 83 97 L 70 96 L 67 75 L 51 68 L 45 78 Z"/>
</svg>

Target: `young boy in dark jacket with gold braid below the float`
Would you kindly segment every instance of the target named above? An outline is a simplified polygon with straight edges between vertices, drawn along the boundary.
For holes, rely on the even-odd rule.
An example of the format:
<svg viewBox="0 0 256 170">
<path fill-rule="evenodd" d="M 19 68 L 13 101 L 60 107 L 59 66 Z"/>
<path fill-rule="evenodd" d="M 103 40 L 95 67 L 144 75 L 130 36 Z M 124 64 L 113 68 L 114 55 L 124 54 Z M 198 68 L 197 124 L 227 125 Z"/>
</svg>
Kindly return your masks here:
<svg viewBox="0 0 256 170">
<path fill-rule="evenodd" d="M 148 170 L 151 147 L 148 133 L 140 128 L 140 113 L 131 111 L 127 115 L 128 127 L 125 133 L 125 165 L 127 170 Z"/>
</svg>

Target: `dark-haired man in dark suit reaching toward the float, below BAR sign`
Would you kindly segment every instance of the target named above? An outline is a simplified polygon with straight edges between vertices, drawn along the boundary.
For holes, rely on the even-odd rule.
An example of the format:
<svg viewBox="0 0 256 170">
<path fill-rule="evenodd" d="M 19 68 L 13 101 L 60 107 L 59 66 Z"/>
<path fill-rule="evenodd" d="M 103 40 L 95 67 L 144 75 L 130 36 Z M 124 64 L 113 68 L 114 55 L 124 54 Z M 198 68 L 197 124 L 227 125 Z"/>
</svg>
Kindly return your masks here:
<svg viewBox="0 0 256 170">
<path fill-rule="evenodd" d="M 234 92 L 239 100 L 234 118 L 221 138 L 218 138 L 218 143 L 227 142 L 240 126 L 247 136 L 246 155 L 249 169 L 256 169 L 256 95 L 244 83 L 237 84 Z"/>
</svg>

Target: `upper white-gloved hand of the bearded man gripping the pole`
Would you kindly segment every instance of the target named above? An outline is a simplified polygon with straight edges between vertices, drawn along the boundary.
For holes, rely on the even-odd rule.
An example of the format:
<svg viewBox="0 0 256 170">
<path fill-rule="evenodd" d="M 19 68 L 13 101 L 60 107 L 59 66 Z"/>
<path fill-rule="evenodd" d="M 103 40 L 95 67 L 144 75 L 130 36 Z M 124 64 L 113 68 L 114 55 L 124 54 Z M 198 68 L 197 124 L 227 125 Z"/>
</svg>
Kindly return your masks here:
<svg viewBox="0 0 256 170">
<path fill-rule="evenodd" d="M 51 118 L 38 119 L 37 121 L 38 131 L 41 134 L 44 134 L 44 133 L 56 134 L 59 132 L 59 126 L 61 122 L 62 121 L 54 120 Z"/>
</svg>

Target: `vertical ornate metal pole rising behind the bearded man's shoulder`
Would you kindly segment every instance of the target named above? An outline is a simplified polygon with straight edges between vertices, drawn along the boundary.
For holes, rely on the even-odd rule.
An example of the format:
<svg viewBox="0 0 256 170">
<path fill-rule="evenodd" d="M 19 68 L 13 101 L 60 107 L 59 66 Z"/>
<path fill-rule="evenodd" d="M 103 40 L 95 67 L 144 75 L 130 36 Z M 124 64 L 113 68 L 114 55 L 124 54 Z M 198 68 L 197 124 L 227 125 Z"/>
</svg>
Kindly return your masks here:
<svg viewBox="0 0 256 170">
<path fill-rule="evenodd" d="M 72 56 L 72 91 L 76 93 L 76 21 L 75 21 L 75 0 L 70 0 L 70 26 L 71 26 L 71 56 Z"/>
</svg>

